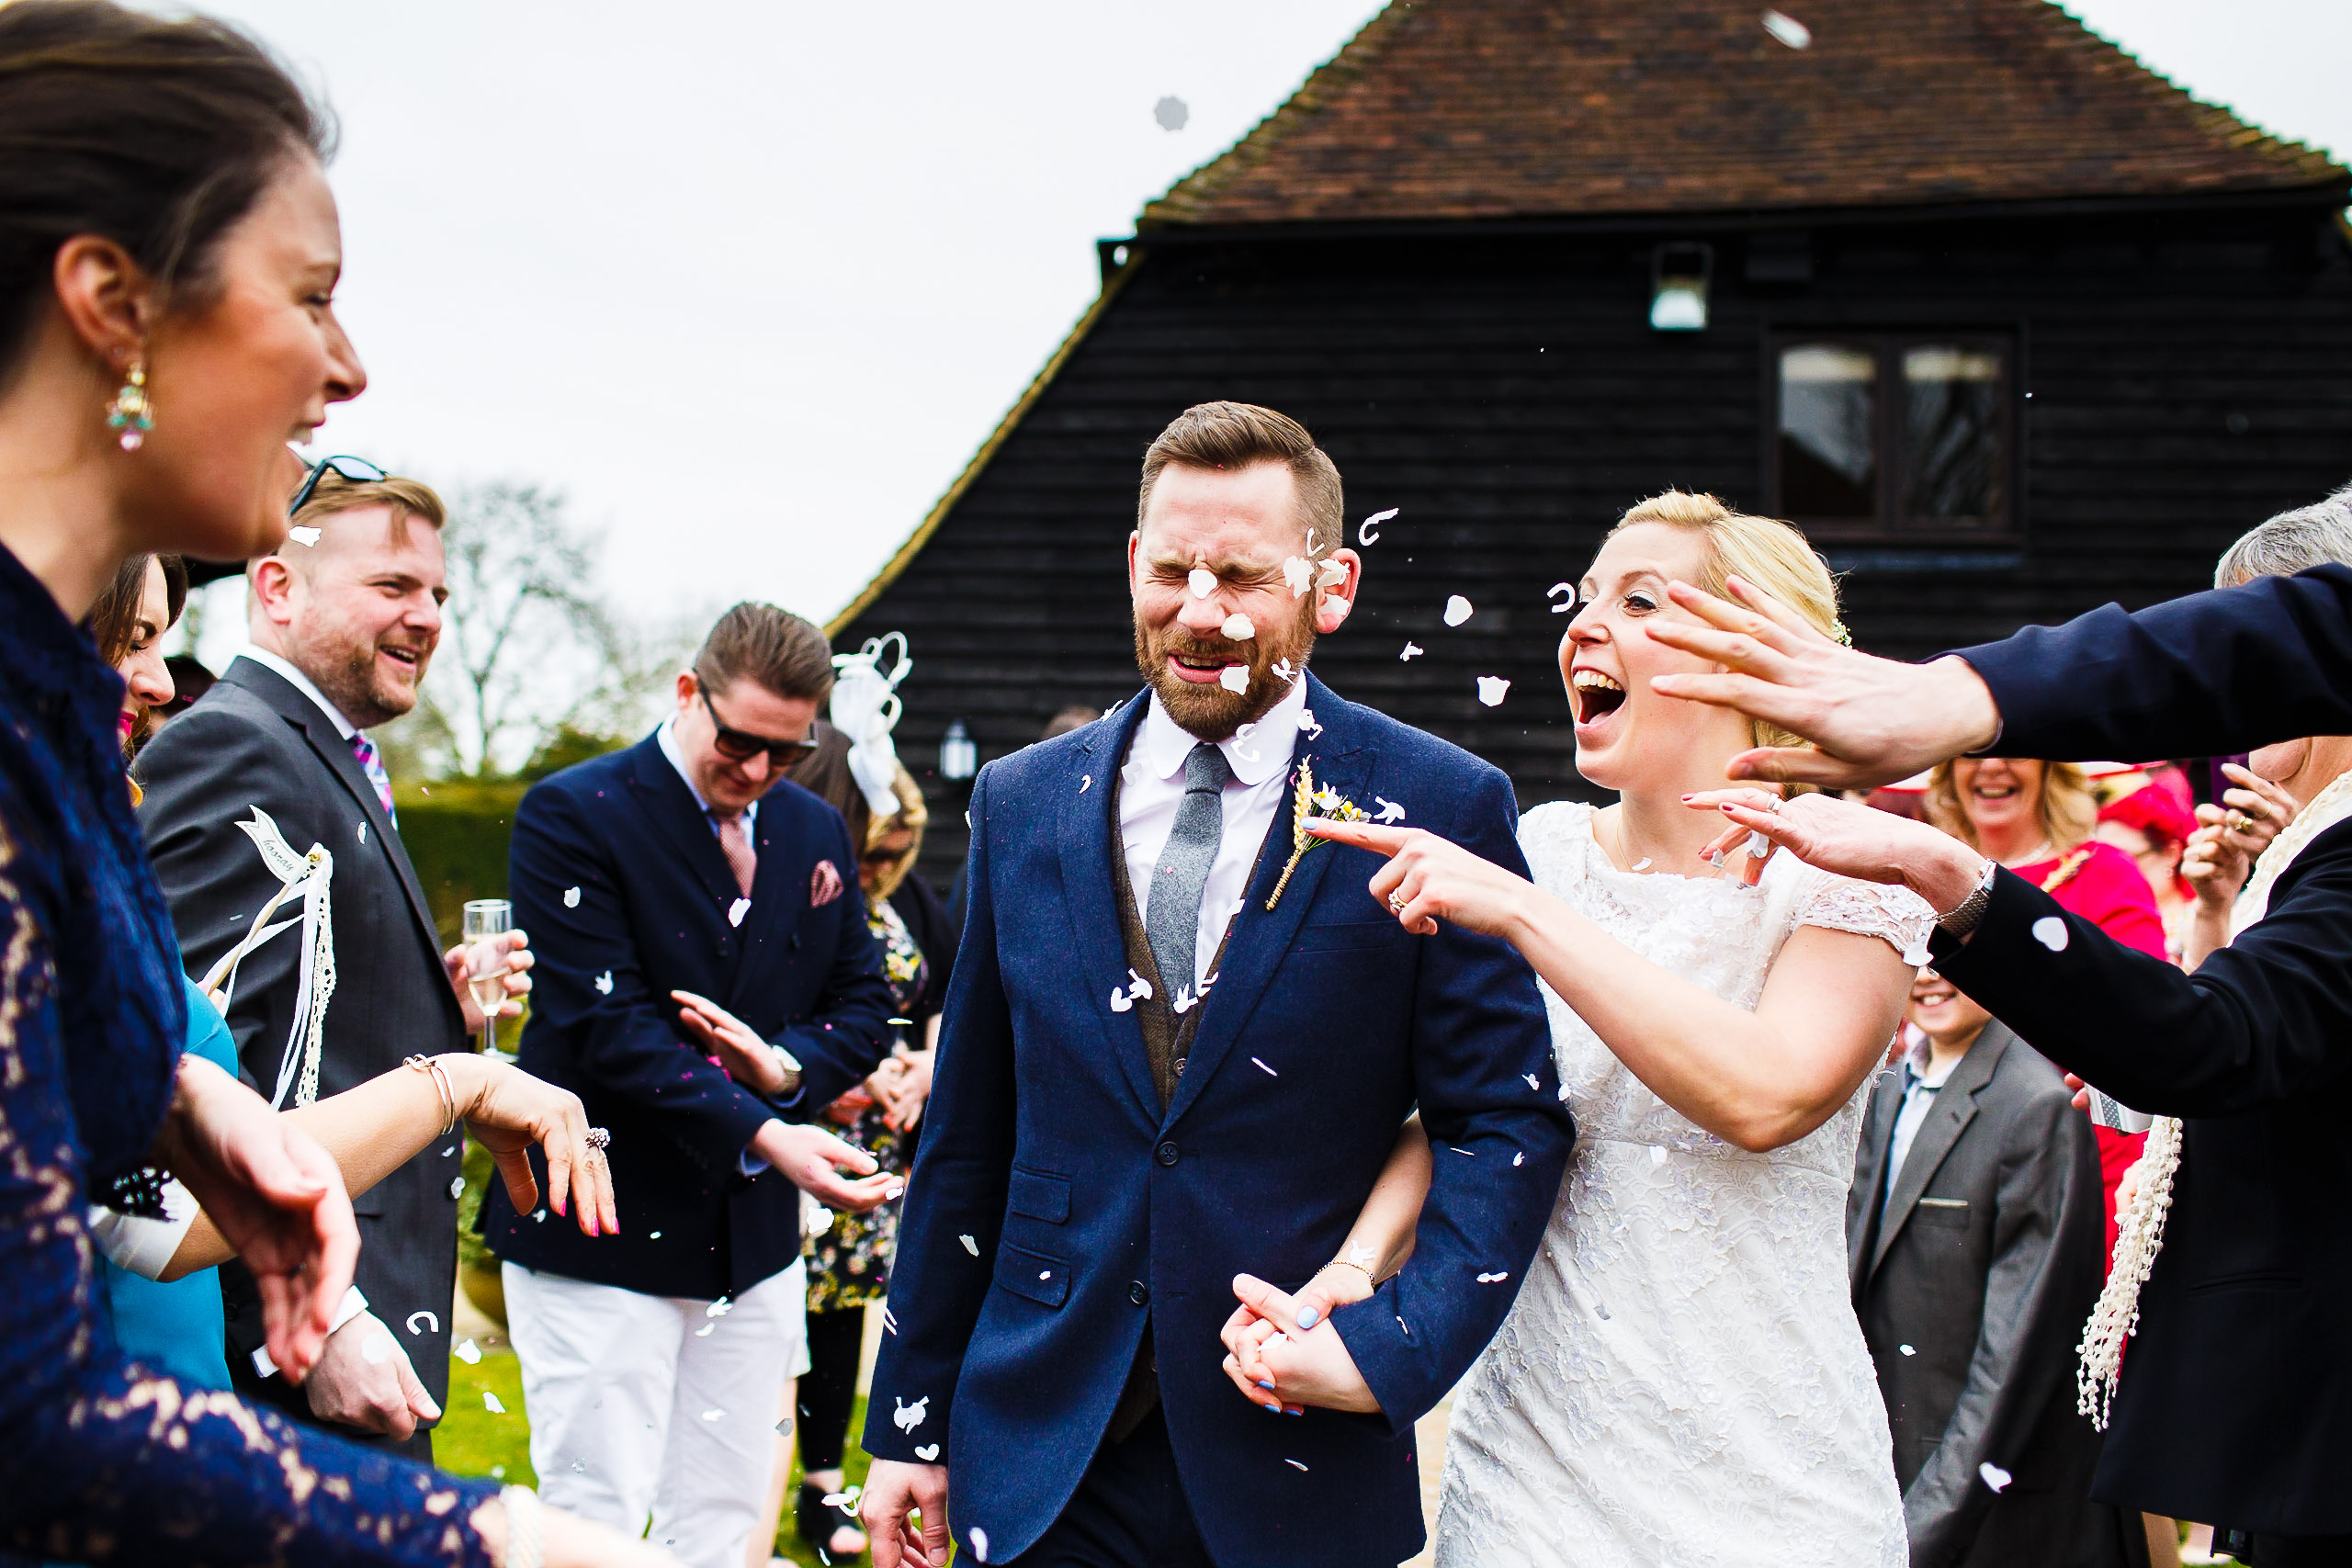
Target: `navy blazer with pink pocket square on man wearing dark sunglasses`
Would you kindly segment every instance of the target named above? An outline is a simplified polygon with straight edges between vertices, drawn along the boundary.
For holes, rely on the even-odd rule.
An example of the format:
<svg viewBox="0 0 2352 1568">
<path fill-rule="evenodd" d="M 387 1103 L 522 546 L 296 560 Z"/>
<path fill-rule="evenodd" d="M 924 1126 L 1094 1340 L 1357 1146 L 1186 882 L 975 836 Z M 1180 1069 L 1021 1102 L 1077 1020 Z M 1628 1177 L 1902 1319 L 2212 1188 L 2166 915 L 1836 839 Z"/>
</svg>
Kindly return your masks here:
<svg viewBox="0 0 2352 1568">
<path fill-rule="evenodd" d="M 482 1234 L 513 1262 L 652 1295 L 720 1298 L 800 1258 L 800 1190 L 743 1175 L 764 1121 L 809 1121 L 889 1051 L 889 985 L 842 813 L 793 783 L 760 802 L 741 926 L 734 872 L 654 736 L 541 780 L 515 811 L 510 898 L 532 933 L 520 1067 L 574 1091 L 612 1133 L 619 1237 L 517 1215 L 506 1185 Z M 840 889 L 809 903 L 821 860 Z M 802 1065 L 764 1100 L 708 1060 L 673 990 L 710 997 Z M 546 1180 L 539 1152 L 532 1164 Z"/>
</svg>

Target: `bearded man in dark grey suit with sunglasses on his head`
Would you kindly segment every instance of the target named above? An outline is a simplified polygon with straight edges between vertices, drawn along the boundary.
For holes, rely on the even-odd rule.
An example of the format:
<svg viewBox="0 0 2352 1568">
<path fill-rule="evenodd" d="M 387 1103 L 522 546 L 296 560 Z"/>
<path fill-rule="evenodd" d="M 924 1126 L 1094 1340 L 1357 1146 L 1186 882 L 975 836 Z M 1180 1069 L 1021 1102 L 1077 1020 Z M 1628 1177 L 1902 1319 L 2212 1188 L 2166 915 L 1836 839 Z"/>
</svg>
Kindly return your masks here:
<svg viewBox="0 0 2352 1568">
<path fill-rule="evenodd" d="M 334 856 L 336 985 L 325 1009 L 318 1095 L 397 1070 L 412 1053 L 463 1051 L 480 1013 L 463 950 L 437 952 L 433 912 L 400 846 L 393 788 L 367 729 L 416 705 L 440 639 L 445 512 L 414 480 L 343 482 L 327 470 L 278 555 L 247 569 L 247 646 L 219 684 L 139 755 L 139 809 L 183 959 L 205 976 L 247 933 L 278 877 L 238 827 L 261 806 L 299 856 Z M 299 903 L 273 917 L 299 914 Z M 520 945 L 520 938 L 515 938 Z M 280 1084 L 303 997 L 301 929 L 242 959 L 228 1027 L 245 1079 Z M 289 1095 L 292 1105 L 294 1098 Z M 228 1371 L 238 1389 L 343 1436 L 433 1458 L 423 1422 L 449 1389 L 459 1138 L 353 1201 L 355 1293 L 303 1387 L 261 1349 L 252 1276 L 221 1267 Z M 365 1298 L 365 1307 L 362 1300 Z M 390 1331 L 393 1352 L 383 1349 Z"/>
</svg>

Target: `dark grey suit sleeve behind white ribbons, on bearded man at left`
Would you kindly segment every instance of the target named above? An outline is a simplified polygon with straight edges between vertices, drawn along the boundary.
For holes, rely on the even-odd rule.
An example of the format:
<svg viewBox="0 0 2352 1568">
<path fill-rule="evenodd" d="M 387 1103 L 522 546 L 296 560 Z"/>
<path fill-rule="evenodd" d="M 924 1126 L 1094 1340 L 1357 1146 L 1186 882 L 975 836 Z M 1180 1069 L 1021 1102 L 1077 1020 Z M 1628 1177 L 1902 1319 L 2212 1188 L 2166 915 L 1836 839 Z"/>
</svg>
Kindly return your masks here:
<svg viewBox="0 0 2352 1568">
<path fill-rule="evenodd" d="M 282 743 L 303 745 L 280 719 L 266 722 L 280 724 Z M 198 705 L 158 731 L 139 757 L 146 790 L 139 827 L 172 905 L 181 961 L 195 978 L 205 978 L 238 945 L 278 891 L 278 877 L 238 823 L 252 820 L 252 809 L 261 806 L 294 853 L 320 837 L 313 809 L 301 799 L 303 780 L 315 776 L 289 769 L 282 750 L 270 745 L 278 738 L 221 705 Z M 270 924 L 299 914 L 301 900 L 287 900 Z M 238 964 L 228 1032 L 238 1041 L 245 1081 L 263 1095 L 278 1088 L 299 973 L 299 926 L 280 931 Z"/>
</svg>

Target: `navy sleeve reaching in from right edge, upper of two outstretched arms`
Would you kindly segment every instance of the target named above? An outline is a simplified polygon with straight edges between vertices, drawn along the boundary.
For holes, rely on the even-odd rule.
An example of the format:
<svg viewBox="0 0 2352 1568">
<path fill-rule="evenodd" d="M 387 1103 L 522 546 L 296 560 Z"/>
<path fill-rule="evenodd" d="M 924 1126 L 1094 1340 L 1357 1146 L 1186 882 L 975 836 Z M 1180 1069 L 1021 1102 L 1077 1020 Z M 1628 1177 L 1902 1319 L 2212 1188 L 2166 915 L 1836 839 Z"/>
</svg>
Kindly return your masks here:
<svg viewBox="0 0 2352 1568">
<path fill-rule="evenodd" d="M 2352 733 L 2352 567 L 2314 567 L 1959 649 L 2009 757 L 2192 757 Z"/>
</svg>

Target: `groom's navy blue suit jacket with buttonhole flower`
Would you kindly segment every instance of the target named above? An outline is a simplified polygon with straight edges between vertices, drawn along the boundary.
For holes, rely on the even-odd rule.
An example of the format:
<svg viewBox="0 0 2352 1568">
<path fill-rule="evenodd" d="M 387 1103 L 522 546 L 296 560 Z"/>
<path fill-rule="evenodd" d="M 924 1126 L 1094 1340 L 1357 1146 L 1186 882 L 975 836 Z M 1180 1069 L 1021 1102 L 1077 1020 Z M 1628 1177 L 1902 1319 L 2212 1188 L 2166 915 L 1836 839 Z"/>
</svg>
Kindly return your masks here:
<svg viewBox="0 0 2352 1568">
<path fill-rule="evenodd" d="M 1289 858 L 1289 802 L 1162 1112 L 1120 933 L 1117 773 L 1148 708 L 988 764 L 969 912 L 891 1269 L 866 1448 L 946 1460 L 953 1526 L 1025 1552 L 1103 1441 L 1145 1321 L 1176 1465 L 1225 1568 L 1362 1568 L 1421 1549 L 1414 1418 L 1510 1309 L 1573 1124 L 1536 978 L 1510 945 L 1406 933 L 1378 856 Z M 1496 769 L 1310 677 L 1319 785 L 1385 797 L 1524 875 Z M 1270 1415 L 1221 1371 L 1232 1276 L 1331 1260 L 1421 1107 L 1435 1178 L 1406 1269 L 1334 1324 L 1383 1415 Z M 1482 1276 L 1489 1276 L 1482 1281 Z"/>
</svg>

